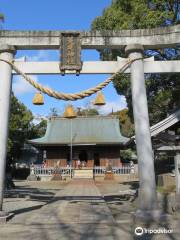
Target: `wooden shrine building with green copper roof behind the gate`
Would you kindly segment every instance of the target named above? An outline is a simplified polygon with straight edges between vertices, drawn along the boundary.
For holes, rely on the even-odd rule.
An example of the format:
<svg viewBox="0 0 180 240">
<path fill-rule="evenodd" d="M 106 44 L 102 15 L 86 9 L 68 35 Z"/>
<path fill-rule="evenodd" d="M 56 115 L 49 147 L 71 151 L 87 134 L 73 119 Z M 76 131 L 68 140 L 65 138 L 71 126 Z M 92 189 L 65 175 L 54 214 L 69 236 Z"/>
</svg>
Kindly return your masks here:
<svg viewBox="0 0 180 240">
<path fill-rule="evenodd" d="M 45 153 L 48 167 L 121 166 L 120 150 L 129 142 L 120 132 L 119 119 L 114 116 L 51 117 L 43 137 L 29 143 Z"/>
</svg>

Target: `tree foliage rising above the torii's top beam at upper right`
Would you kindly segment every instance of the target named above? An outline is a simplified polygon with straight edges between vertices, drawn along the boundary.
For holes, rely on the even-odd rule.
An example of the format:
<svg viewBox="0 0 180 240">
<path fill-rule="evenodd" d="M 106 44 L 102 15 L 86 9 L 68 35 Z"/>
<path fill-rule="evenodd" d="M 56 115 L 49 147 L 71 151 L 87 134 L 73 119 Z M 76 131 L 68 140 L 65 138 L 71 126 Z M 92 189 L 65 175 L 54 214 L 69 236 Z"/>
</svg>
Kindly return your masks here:
<svg viewBox="0 0 180 240">
<path fill-rule="evenodd" d="M 178 24 L 179 0 L 116 0 L 92 23 L 93 30 L 155 28 Z"/>
</svg>

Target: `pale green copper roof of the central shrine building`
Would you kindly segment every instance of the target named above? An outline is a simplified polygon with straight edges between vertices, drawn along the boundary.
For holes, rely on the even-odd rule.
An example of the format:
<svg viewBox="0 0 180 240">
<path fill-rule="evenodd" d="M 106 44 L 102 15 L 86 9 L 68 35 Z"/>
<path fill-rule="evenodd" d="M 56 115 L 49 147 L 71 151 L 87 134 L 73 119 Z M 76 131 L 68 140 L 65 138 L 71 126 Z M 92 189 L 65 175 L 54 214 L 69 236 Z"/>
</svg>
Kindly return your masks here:
<svg viewBox="0 0 180 240">
<path fill-rule="evenodd" d="M 78 117 L 49 119 L 45 136 L 29 140 L 35 145 L 73 145 L 83 144 L 126 144 L 129 139 L 123 137 L 119 129 L 119 120 L 115 117 Z"/>
</svg>

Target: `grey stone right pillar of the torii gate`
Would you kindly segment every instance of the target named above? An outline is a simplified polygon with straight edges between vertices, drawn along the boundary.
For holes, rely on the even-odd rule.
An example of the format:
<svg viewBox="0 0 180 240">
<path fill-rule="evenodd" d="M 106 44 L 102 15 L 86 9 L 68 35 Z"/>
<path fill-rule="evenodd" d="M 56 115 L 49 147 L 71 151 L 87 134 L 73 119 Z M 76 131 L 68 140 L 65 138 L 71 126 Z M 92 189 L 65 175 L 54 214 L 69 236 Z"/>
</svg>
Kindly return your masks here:
<svg viewBox="0 0 180 240">
<path fill-rule="evenodd" d="M 128 45 L 125 49 L 130 59 L 142 58 L 143 50 L 140 44 Z M 131 64 L 131 90 L 140 184 L 136 214 L 139 217 L 154 218 L 157 214 L 157 196 L 143 59 Z"/>
</svg>

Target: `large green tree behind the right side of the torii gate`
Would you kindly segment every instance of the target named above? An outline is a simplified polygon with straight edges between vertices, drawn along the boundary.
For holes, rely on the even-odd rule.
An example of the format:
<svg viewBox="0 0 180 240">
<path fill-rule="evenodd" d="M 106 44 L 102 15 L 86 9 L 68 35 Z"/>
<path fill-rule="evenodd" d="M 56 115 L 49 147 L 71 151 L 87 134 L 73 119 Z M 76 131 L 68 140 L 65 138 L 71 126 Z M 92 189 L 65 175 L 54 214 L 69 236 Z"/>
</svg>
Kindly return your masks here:
<svg viewBox="0 0 180 240">
<path fill-rule="evenodd" d="M 116 0 L 92 23 L 92 30 L 122 30 L 164 27 L 179 23 L 180 2 L 165 0 Z M 180 49 L 150 49 L 145 57 L 155 56 L 156 60 L 180 59 Z M 122 50 L 104 49 L 102 60 L 124 57 Z M 151 124 L 157 123 L 180 106 L 179 74 L 146 74 L 147 97 Z M 126 96 L 132 117 L 132 101 L 129 75 L 121 74 L 114 80 L 118 94 Z"/>
</svg>

